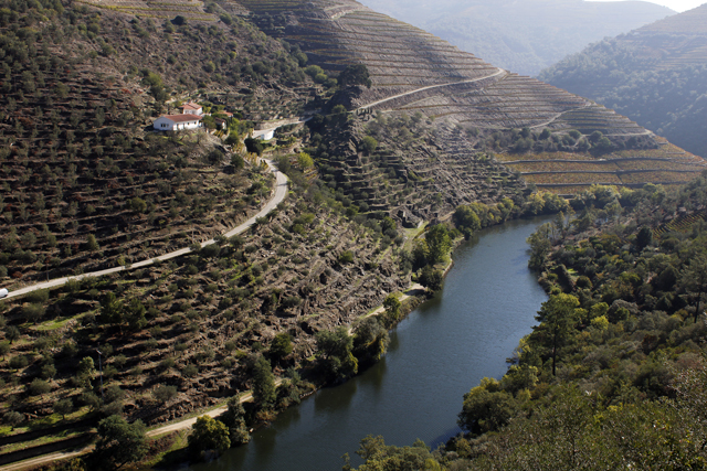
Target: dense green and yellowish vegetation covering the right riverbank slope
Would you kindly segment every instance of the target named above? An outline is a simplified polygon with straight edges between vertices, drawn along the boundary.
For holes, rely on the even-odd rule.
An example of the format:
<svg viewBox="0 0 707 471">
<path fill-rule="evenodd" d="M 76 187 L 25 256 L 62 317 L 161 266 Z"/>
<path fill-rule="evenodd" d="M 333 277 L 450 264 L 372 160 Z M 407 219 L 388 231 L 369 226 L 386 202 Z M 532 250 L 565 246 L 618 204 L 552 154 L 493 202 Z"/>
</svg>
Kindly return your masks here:
<svg viewBox="0 0 707 471">
<path fill-rule="evenodd" d="M 578 195 L 528 239 L 549 299 L 506 375 L 464 396 L 466 435 L 435 451 L 369 437 L 359 469 L 701 469 L 706 191 Z"/>
</svg>

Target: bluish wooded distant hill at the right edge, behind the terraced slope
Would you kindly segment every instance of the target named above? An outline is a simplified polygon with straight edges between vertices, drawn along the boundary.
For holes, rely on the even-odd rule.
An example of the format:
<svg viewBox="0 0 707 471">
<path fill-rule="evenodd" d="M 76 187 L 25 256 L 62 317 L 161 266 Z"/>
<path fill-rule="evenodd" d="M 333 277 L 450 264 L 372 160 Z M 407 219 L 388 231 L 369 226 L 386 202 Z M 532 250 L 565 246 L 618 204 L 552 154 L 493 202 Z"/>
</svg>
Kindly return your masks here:
<svg viewBox="0 0 707 471">
<path fill-rule="evenodd" d="M 707 156 L 707 4 L 592 44 L 540 78 Z"/>
</svg>

